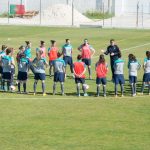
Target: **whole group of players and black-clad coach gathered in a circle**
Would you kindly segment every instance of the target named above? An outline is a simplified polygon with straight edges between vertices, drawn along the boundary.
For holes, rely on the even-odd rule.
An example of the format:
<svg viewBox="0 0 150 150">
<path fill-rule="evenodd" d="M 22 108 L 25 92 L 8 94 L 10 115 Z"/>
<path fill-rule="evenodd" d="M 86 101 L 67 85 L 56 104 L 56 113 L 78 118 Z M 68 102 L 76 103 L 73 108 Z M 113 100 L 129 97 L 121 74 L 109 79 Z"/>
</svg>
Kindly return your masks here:
<svg viewBox="0 0 150 150">
<path fill-rule="evenodd" d="M 23 93 L 26 91 L 26 82 L 28 78 L 29 68 L 34 73 L 34 95 L 36 94 L 36 87 L 38 80 L 42 82 L 42 93 L 45 93 L 45 66 L 49 67 L 49 75 L 52 75 L 52 67 L 54 70 L 54 84 L 53 84 L 53 94 L 56 94 L 56 83 L 61 84 L 61 94 L 64 95 L 64 81 L 66 75 L 66 66 L 70 66 L 71 73 L 75 77 L 77 95 L 80 96 L 80 84 L 82 84 L 83 95 L 88 96 L 86 90 L 88 85 L 85 83 L 85 72 L 86 66 L 88 67 L 89 78 L 91 79 L 91 58 L 95 53 L 95 49 L 88 43 L 87 39 L 84 39 L 84 43 L 78 47 L 81 52 L 77 56 L 77 62 L 73 63 L 72 60 L 72 50 L 73 47 L 69 39 L 66 39 L 66 43 L 62 47 L 62 52 L 59 53 L 59 49 L 56 46 L 56 41 L 51 40 L 51 47 L 48 49 L 49 64 L 46 61 L 46 49 L 45 42 L 41 41 L 39 48 L 36 48 L 36 57 L 31 59 L 31 42 L 26 41 L 26 46 L 20 46 L 19 52 L 17 53 L 16 60 L 18 66 L 18 93 L 21 93 L 21 83 L 23 83 Z M 110 40 L 110 45 L 107 47 L 106 51 L 101 51 L 105 55 L 110 55 L 110 65 L 112 72 L 112 80 L 114 82 L 115 96 L 118 95 L 118 84 L 121 87 L 121 96 L 124 94 L 124 60 L 121 59 L 121 51 L 119 47 L 115 44 L 115 40 Z M 99 56 L 99 60 L 95 65 L 96 70 L 96 84 L 97 93 L 100 95 L 100 85 L 103 86 L 103 96 L 106 96 L 106 76 L 108 73 L 108 64 L 105 62 L 104 54 Z M 63 59 L 61 56 L 63 55 Z M 140 69 L 141 65 L 137 61 L 133 54 L 129 54 L 129 82 L 131 84 L 132 96 L 136 95 L 136 83 L 137 83 L 137 71 Z M 14 74 L 15 63 L 13 59 L 13 48 L 8 48 L 3 45 L 0 51 L 0 74 L 1 74 L 1 85 L 2 89 L 5 90 L 5 83 L 7 83 L 7 90 L 13 87 L 13 74 Z M 144 75 L 143 75 L 143 85 L 141 93 L 143 93 L 145 85 L 148 85 L 148 93 L 150 93 L 150 52 L 146 52 L 146 58 L 144 59 Z"/>
</svg>

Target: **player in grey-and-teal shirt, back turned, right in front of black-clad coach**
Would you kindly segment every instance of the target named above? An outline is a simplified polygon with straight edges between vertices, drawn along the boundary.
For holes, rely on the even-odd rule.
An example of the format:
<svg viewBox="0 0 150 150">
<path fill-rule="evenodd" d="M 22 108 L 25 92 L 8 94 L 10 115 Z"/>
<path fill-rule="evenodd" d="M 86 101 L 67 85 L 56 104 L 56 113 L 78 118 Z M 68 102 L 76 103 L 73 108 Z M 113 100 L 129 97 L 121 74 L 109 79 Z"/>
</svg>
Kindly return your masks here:
<svg viewBox="0 0 150 150">
<path fill-rule="evenodd" d="M 124 60 L 121 59 L 121 53 L 118 53 L 118 59 L 114 62 L 114 84 L 115 84 L 115 97 L 118 95 L 118 84 L 121 87 L 121 96 L 124 95 L 124 74 L 123 74 Z"/>
</svg>

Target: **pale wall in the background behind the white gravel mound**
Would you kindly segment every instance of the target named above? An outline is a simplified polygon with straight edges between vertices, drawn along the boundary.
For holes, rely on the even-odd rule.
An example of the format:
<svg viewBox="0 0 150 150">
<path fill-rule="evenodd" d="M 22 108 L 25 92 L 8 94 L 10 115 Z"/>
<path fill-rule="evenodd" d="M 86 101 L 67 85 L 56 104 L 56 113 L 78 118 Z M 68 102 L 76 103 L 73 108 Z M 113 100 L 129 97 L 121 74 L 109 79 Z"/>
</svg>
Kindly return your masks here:
<svg viewBox="0 0 150 150">
<path fill-rule="evenodd" d="M 21 0 L 9 0 L 10 4 L 20 4 Z M 104 0 L 108 1 L 108 0 Z M 26 10 L 40 10 L 40 0 L 22 0 L 25 4 Z M 53 4 L 69 4 L 72 0 L 41 0 L 42 9 L 46 9 Z M 97 6 L 100 5 L 102 0 L 74 0 L 74 6 L 80 12 L 85 12 L 87 10 L 95 10 Z M 0 0 L 0 13 L 7 12 L 8 10 L 8 0 Z"/>
</svg>

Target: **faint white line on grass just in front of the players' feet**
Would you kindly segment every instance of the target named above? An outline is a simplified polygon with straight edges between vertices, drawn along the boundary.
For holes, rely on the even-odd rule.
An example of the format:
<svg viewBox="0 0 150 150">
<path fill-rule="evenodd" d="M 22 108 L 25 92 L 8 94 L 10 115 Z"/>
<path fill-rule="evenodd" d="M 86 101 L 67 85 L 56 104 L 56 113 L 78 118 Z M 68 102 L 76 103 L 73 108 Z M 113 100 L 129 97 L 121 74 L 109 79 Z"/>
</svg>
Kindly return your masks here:
<svg viewBox="0 0 150 150">
<path fill-rule="evenodd" d="M 132 97 L 132 96 L 124 96 L 124 97 L 14 97 L 14 98 L 2 98 L 2 100 L 106 100 L 106 99 L 113 99 L 113 100 L 117 100 L 117 99 L 136 99 L 136 98 L 143 98 L 143 97 L 150 97 L 149 95 L 140 95 L 140 96 L 135 96 L 135 97 Z M 0 100 L 1 101 L 1 100 Z"/>
</svg>

